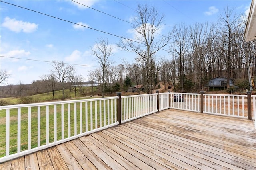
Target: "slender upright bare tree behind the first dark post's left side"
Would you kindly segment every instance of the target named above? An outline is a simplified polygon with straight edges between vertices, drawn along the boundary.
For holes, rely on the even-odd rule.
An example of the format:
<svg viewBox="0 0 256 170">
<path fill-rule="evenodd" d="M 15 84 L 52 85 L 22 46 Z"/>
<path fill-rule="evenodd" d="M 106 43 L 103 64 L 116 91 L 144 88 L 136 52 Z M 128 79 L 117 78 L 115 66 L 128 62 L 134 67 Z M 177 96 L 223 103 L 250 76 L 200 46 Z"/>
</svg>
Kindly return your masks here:
<svg viewBox="0 0 256 170">
<path fill-rule="evenodd" d="M 98 42 L 92 47 L 92 55 L 97 57 L 97 61 L 100 65 L 102 72 L 102 98 L 104 97 L 104 84 L 105 84 L 105 76 L 106 70 L 108 66 L 113 64 L 114 62 L 110 59 L 113 47 L 109 44 L 107 39 L 98 39 Z"/>
</svg>

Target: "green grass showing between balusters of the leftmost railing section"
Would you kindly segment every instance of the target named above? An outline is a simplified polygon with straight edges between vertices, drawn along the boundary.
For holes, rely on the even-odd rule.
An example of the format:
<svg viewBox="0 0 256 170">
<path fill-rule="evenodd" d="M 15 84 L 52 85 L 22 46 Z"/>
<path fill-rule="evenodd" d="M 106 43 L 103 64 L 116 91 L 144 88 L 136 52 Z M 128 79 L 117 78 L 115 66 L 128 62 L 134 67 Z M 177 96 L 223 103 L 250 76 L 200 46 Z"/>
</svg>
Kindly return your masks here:
<svg viewBox="0 0 256 170">
<path fill-rule="evenodd" d="M 95 102 L 92 102 L 92 117 L 90 115 L 91 112 L 91 104 L 88 102 L 88 106 L 85 106 L 85 103 L 82 103 L 82 132 L 86 132 L 95 129 L 95 123 L 97 119 L 97 127 L 100 127 L 100 118 L 102 120 L 102 126 L 108 125 L 107 115 L 103 115 L 103 102 L 101 103 L 102 107 L 102 116 L 99 115 L 100 104 L 97 102 L 97 116 L 95 115 Z M 107 106 L 107 105 L 106 105 Z M 61 114 L 61 105 L 57 105 L 57 141 L 62 139 L 62 114 Z M 106 108 L 106 107 L 105 107 Z M 37 116 L 37 107 L 31 107 L 31 148 L 37 147 L 38 143 L 38 116 Z M 110 108 L 110 115 L 111 115 Z M 87 123 L 86 123 L 86 115 L 85 112 L 88 112 Z M 107 114 L 106 108 L 106 114 Z M 64 138 L 68 137 L 68 104 L 64 104 Z M 46 144 L 46 106 L 40 108 L 40 145 Z M 71 136 L 75 133 L 75 111 L 74 104 L 70 104 L 70 126 L 71 126 Z M 0 112 L 0 157 L 5 156 L 5 139 L 6 139 L 6 112 L 2 110 Z M 92 119 L 91 119 L 92 118 Z M 18 127 L 18 116 L 17 109 L 10 109 L 10 154 L 17 152 L 17 127 Z M 76 106 L 76 133 L 80 133 L 80 104 Z M 114 122 L 114 115 L 112 117 Z M 111 116 L 110 116 L 110 124 L 111 124 Z M 28 149 L 28 108 L 21 109 L 21 150 Z M 54 141 L 54 106 L 49 106 L 49 143 Z"/>
</svg>

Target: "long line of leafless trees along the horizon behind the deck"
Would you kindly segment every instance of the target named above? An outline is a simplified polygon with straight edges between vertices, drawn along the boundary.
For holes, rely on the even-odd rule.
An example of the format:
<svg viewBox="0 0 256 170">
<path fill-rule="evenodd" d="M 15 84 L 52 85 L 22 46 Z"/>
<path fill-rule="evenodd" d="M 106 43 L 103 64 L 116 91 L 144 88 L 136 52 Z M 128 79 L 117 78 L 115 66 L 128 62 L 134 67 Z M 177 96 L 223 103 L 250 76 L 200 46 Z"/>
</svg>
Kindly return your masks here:
<svg viewBox="0 0 256 170">
<path fill-rule="evenodd" d="M 256 41 L 245 42 L 246 18 L 227 7 L 220 12 L 216 23 L 178 24 L 166 35 L 161 35 L 164 14 L 147 4 L 138 5 L 133 18 L 133 39 L 120 39 L 116 45 L 124 51 L 133 53 L 134 63 L 114 65 L 111 59 L 113 47 L 108 39 L 98 39 L 91 48 L 99 68 L 88 74 L 88 81 L 100 84 L 98 89 L 104 97 L 106 92 L 126 91 L 131 84 L 143 84 L 144 92 L 152 93 L 159 82 L 174 84 L 174 91 L 189 92 L 205 90 L 210 79 L 223 76 L 236 82 L 248 79 L 248 70 L 256 76 Z M 168 48 L 168 55 L 158 52 Z M 62 89 L 70 82 L 77 93 L 85 80 L 76 75 L 74 66 L 61 61 L 53 61 L 51 74 L 41 76 L 44 88 L 53 92 Z M 34 90 L 41 88 L 33 82 Z M 227 84 L 229 88 L 229 84 Z M 79 88 L 80 89 L 80 88 Z"/>
</svg>

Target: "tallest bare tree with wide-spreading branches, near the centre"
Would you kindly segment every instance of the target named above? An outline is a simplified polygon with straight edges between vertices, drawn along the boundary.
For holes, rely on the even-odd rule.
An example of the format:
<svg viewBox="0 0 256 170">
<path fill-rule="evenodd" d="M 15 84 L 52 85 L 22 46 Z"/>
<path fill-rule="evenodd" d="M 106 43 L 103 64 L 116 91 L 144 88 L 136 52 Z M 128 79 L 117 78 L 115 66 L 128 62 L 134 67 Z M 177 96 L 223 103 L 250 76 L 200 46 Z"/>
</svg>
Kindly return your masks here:
<svg viewBox="0 0 256 170">
<path fill-rule="evenodd" d="M 168 45 L 171 40 L 172 33 L 162 36 L 158 32 L 164 25 L 164 14 L 160 14 L 158 10 L 153 6 L 138 5 L 136 10 L 137 16 L 134 17 L 134 41 L 129 39 L 122 39 L 118 43 L 118 47 L 121 47 L 125 51 L 135 52 L 140 61 L 145 62 L 145 78 L 146 81 L 144 88 L 149 93 L 149 84 L 152 80 L 152 72 L 150 72 L 150 66 L 152 66 L 153 57 L 156 52 Z"/>
</svg>

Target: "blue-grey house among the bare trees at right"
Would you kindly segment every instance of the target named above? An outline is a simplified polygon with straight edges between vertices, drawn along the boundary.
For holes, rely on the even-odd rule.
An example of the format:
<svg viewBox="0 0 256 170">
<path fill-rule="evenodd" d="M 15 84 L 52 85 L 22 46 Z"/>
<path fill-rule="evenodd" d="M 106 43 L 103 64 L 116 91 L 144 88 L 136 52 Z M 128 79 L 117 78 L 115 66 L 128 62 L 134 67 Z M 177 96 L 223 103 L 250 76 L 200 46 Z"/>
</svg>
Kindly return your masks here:
<svg viewBox="0 0 256 170">
<path fill-rule="evenodd" d="M 211 80 L 209 80 L 209 83 L 208 83 L 208 87 L 209 89 L 210 88 L 219 88 L 220 90 L 221 89 L 225 89 L 227 87 L 227 78 L 225 77 L 216 77 L 216 78 L 213 78 Z M 233 80 L 232 79 L 229 79 L 229 86 L 234 86 L 233 84 Z"/>
</svg>

